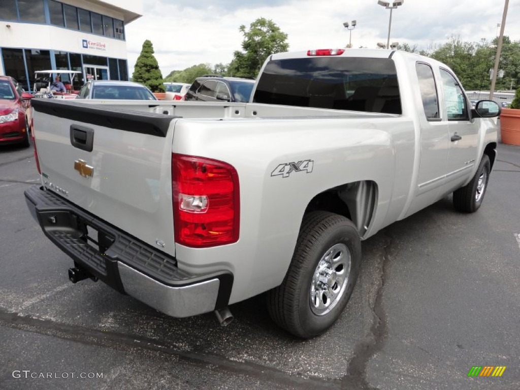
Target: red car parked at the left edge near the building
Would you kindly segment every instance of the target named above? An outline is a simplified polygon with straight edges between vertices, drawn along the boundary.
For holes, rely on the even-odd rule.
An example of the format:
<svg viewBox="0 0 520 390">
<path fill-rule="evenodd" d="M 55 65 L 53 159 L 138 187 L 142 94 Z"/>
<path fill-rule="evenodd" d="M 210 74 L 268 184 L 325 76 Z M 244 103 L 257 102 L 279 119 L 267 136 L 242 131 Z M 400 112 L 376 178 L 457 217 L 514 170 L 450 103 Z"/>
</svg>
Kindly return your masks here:
<svg viewBox="0 0 520 390">
<path fill-rule="evenodd" d="M 10 76 L 0 76 L 0 144 L 29 146 L 29 126 L 25 123 L 25 101 L 32 98 Z"/>
</svg>

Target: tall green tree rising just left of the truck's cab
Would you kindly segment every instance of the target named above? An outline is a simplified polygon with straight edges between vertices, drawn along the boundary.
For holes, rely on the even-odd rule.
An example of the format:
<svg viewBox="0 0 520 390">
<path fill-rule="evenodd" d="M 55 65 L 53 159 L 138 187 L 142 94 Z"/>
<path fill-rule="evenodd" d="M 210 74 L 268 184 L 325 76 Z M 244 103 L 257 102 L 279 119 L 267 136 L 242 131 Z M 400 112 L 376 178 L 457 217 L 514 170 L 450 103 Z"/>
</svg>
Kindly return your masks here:
<svg viewBox="0 0 520 390">
<path fill-rule="evenodd" d="M 242 24 L 239 31 L 244 36 L 243 52 L 233 54 L 228 67 L 228 74 L 233 76 L 256 76 L 269 55 L 289 50 L 287 34 L 270 19 L 256 19 L 249 30 Z"/>
</svg>

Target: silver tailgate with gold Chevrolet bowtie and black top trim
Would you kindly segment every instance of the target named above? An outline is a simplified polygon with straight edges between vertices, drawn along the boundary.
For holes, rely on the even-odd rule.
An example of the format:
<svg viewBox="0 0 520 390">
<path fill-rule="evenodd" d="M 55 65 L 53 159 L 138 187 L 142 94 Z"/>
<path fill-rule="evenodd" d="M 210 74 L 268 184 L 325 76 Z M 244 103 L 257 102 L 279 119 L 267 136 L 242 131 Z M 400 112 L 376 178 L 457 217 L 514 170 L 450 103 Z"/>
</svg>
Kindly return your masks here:
<svg viewBox="0 0 520 390">
<path fill-rule="evenodd" d="M 174 256 L 175 117 L 73 100 L 32 106 L 44 186 Z"/>
</svg>

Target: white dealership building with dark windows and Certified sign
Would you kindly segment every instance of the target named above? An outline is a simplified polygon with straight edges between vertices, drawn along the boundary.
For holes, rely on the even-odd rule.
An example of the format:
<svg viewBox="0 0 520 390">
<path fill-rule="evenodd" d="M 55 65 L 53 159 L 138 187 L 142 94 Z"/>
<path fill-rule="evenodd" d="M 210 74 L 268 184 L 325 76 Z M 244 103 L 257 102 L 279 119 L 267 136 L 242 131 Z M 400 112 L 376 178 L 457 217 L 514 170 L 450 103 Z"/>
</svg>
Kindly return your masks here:
<svg viewBox="0 0 520 390">
<path fill-rule="evenodd" d="M 126 24 L 142 16 L 142 0 L 2 0 L 0 75 L 32 91 L 34 72 L 80 71 L 88 80 L 128 80 Z"/>
</svg>

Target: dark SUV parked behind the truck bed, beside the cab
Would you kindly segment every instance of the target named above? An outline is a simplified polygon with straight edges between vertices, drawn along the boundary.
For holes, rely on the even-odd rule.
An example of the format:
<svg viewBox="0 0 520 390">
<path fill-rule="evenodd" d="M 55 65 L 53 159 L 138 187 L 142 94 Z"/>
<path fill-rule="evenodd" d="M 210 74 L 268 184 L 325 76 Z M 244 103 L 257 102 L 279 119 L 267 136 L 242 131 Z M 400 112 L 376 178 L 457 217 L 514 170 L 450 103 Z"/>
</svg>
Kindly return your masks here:
<svg viewBox="0 0 520 390">
<path fill-rule="evenodd" d="M 195 79 L 184 99 L 246 103 L 249 101 L 254 85 L 253 79 L 206 75 Z"/>
</svg>

